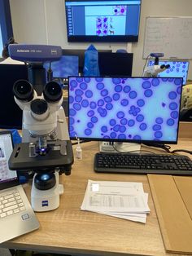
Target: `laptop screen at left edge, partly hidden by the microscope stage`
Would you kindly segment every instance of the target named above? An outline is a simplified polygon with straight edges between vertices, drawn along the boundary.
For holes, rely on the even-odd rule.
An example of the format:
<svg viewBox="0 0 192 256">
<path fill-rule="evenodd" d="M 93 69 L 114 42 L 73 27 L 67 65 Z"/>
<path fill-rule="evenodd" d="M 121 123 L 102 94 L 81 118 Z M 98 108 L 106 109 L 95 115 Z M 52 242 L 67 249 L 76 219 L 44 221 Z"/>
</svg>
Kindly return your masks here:
<svg viewBox="0 0 192 256">
<path fill-rule="evenodd" d="M 15 170 L 10 170 L 8 160 L 13 150 L 11 132 L 0 132 L 0 184 L 17 180 Z"/>
</svg>

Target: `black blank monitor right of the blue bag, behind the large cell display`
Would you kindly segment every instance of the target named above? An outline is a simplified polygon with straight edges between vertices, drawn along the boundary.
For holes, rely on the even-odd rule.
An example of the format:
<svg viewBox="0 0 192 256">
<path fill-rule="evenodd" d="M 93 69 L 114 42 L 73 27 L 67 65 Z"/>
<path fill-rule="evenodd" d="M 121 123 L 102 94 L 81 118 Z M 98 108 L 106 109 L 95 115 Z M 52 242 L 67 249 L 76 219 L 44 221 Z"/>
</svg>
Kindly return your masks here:
<svg viewBox="0 0 192 256">
<path fill-rule="evenodd" d="M 98 52 L 98 68 L 101 76 L 132 76 L 133 53 Z"/>
</svg>

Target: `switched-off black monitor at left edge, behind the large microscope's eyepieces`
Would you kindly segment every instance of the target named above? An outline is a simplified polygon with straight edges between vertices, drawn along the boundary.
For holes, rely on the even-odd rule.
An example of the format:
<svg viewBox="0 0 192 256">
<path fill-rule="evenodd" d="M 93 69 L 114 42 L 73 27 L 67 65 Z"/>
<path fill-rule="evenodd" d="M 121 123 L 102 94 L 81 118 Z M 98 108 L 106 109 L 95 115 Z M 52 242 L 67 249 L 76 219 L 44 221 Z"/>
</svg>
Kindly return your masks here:
<svg viewBox="0 0 192 256">
<path fill-rule="evenodd" d="M 19 80 L 28 80 L 28 68 L 24 64 L 0 64 L 0 128 L 21 129 L 22 110 L 15 103 L 12 88 Z"/>
</svg>

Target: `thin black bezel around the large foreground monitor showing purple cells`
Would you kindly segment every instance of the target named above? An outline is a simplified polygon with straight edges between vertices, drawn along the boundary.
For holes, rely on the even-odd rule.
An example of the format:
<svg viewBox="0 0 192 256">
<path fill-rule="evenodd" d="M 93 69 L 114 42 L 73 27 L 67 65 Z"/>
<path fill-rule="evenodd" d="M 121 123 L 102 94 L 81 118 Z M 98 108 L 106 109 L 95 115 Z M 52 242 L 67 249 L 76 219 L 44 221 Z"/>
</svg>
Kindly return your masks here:
<svg viewBox="0 0 192 256">
<path fill-rule="evenodd" d="M 104 76 L 102 78 L 117 78 L 120 76 Z M 69 86 L 69 82 L 70 82 L 70 78 L 68 77 L 68 97 L 70 96 L 70 86 Z M 76 78 L 75 76 L 73 78 Z M 84 77 L 81 77 L 84 78 Z M 90 78 L 98 78 L 98 77 L 90 77 Z M 158 77 L 126 77 L 126 76 L 122 76 L 120 78 L 144 78 L 144 79 L 148 79 L 148 78 L 158 78 Z M 165 78 L 165 77 L 159 77 L 159 78 Z M 166 77 L 166 78 L 181 78 L 181 80 L 183 80 L 183 77 Z M 182 84 L 181 84 L 181 96 L 182 96 Z M 68 131 L 70 128 L 70 114 L 69 114 L 69 110 L 70 110 L 70 103 L 68 100 Z M 181 97 L 180 97 L 180 102 L 179 102 L 179 113 L 181 112 Z M 177 139 L 176 141 L 169 141 L 169 140 L 148 140 L 148 139 L 104 139 L 104 138 L 88 138 L 88 137 L 78 137 L 78 139 L 83 140 L 83 141 L 106 141 L 106 142 L 117 142 L 117 143 L 147 143 L 147 144 L 177 144 L 178 141 L 178 134 L 179 134 L 179 126 L 180 126 L 180 118 L 178 117 L 177 119 Z M 76 140 L 76 136 L 71 136 L 70 132 L 69 132 L 69 138 L 72 140 Z"/>
</svg>

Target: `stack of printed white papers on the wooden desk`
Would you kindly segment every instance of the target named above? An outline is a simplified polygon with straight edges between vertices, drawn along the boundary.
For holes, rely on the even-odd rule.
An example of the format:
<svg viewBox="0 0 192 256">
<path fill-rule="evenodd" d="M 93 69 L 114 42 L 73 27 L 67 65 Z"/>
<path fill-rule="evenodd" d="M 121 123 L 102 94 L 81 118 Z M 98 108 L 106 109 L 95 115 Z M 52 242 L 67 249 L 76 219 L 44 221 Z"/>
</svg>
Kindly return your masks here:
<svg viewBox="0 0 192 256">
<path fill-rule="evenodd" d="M 81 210 L 146 223 L 147 201 L 142 183 L 88 180 Z"/>
</svg>

